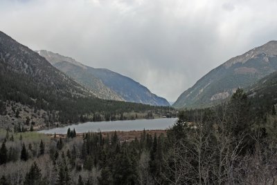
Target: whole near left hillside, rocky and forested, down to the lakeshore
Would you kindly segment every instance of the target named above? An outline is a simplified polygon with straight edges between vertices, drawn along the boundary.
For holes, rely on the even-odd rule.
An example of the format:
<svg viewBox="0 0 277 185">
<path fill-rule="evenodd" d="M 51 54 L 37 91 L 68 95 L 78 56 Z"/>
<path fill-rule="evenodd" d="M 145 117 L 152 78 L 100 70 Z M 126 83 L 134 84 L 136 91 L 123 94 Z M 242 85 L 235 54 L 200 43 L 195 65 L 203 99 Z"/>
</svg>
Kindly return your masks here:
<svg viewBox="0 0 277 185">
<path fill-rule="evenodd" d="M 170 113 L 161 108 L 98 99 L 37 52 L 0 32 L 0 127 L 57 126 L 83 121 L 134 119 L 134 113 Z M 138 114 L 139 115 L 139 114 Z"/>
</svg>

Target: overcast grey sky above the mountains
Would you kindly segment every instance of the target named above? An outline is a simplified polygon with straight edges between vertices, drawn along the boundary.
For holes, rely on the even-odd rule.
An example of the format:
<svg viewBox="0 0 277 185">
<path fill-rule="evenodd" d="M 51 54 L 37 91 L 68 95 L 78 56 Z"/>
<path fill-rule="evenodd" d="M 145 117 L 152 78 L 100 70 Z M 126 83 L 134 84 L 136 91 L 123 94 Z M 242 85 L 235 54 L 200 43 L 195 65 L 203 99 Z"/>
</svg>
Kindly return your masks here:
<svg viewBox="0 0 277 185">
<path fill-rule="evenodd" d="M 0 0 L 0 30 L 175 101 L 224 61 L 277 40 L 276 11 L 276 0 Z"/>
</svg>

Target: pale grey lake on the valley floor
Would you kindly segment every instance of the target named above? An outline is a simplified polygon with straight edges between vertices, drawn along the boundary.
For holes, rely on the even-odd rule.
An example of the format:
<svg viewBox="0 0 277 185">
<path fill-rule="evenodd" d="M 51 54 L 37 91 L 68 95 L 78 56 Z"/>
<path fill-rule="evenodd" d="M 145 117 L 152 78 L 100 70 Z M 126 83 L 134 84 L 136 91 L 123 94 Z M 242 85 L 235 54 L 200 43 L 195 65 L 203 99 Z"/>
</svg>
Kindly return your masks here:
<svg viewBox="0 0 277 185">
<path fill-rule="evenodd" d="M 40 130 L 39 133 L 46 134 L 66 134 L 67 129 L 75 128 L 76 133 L 87 133 L 88 131 L 97 132 L 105 131 L 130 131 L 130 130 L 163 130 L 172 126 L 177 118 L 160 118 L 160 119 L 136 119 L 125 121 L 100 121 L 87 122 L 84 124 L 73 124 L 59 128 L 52 128 L 48 130 Z"/>
</svg>

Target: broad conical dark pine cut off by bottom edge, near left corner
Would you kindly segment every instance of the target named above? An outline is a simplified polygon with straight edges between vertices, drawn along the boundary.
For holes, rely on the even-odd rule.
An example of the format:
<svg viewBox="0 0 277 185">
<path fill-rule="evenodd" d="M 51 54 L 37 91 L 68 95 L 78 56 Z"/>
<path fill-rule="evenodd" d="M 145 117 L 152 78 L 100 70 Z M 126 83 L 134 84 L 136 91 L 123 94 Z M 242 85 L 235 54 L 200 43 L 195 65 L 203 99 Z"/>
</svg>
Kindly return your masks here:
<svg viewBox="0 0 277 185">
<path fill-rule="evenodd" d="M 26 173 L 24 185 L 39 185 L 41 183 L 42 173 L 39 167 L 37 166 L 37 163 L 34 162 L 34 164 L 30 167 L 30 171 Z"/>
</svg>

